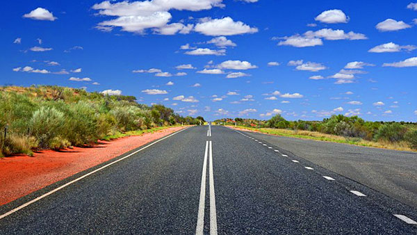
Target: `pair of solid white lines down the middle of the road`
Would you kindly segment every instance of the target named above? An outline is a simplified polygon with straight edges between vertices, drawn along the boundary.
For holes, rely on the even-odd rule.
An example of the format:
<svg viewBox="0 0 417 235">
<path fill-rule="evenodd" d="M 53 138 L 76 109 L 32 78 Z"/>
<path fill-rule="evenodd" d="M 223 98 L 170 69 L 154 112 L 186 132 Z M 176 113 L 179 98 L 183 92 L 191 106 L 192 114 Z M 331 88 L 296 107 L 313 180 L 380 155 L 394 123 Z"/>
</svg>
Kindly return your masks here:
<svg viewBox="0 0 417 235">
<path fill-rule="evenodd" d="M 198 206 L 197 227 L 195 234 L 204 234 L 204 202 L 206 199 L 206 169 L 208 156 L 208 180 L 210 191 L 210 234 L 217 235 L 217 218 L 215 214 L 215 194 L 214 194 L 214 177 L 213 177 L 213 151 L 211 141 L 206 141 L 206 152 L 204 153 L 203 171 L 202 171 L 202 186 L 200 189 L 200 198 Z"/>
</svg>

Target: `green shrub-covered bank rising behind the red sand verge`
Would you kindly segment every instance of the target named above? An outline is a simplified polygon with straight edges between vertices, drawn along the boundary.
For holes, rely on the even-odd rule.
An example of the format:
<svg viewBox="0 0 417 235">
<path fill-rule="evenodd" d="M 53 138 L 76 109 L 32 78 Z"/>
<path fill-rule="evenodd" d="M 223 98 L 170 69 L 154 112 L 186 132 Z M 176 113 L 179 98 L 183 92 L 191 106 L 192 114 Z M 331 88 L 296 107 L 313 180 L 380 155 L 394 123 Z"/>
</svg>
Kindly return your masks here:
<svg viewBox="0 0 417 235">
<path fill-rule="evenodd" d="M 131 96 L 58 86 L 0 87 L 0 156 L 92 145 L 200 121 L 163 105 L 138 104 Z"/>
</svg>

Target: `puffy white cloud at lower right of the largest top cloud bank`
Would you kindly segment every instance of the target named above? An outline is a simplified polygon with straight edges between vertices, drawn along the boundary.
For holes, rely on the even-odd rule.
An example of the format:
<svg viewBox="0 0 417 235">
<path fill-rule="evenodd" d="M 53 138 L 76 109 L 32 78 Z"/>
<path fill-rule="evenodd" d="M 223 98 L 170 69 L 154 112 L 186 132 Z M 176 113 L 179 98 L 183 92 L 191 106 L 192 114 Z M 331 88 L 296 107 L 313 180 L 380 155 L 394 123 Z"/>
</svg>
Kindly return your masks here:
<svg viewBox="0 0 417 235">
<path fill-rule="evenodd" d="M 227 36 L 256 33 L 258 32 L 258 29 L 251 28 L 243 22 L 235 22 L 231 17 L 224 17 L 222 19 L 211 19 L 210 17 L 206 17 L 195 25 L 195 31 L 204 35 Z"/>
</svg>

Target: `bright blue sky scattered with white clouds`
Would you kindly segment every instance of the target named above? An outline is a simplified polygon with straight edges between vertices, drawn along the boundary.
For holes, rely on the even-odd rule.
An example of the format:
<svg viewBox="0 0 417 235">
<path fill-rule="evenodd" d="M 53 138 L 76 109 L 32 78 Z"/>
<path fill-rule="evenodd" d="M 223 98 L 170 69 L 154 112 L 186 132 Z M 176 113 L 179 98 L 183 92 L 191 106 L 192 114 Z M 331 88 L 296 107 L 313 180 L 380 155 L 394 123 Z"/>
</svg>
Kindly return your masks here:
<svg viewBox="0 0 417 235">
<path fill-rule="evenodd" d="M 0 84 L 121 92 L 208 120 L 416 122 L 412 1 L 9 1 L 0 13 Z"/>
</svg>

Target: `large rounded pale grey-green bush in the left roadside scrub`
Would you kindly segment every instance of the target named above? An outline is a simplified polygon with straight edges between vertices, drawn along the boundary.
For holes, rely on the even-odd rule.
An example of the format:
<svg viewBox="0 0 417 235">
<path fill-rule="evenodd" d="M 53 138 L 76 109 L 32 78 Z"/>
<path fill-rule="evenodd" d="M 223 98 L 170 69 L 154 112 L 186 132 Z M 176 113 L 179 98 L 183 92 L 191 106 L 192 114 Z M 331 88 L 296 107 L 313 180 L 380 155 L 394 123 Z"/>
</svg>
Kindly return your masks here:
<svg viewBox="0 0 417 235">
<path fill-rule="evenodd" d="M 30 120 L 33 136 L 39 141 L 39 147 L 49 147 L 49 142 L 59 135 L 65 123 L 64 113 L 55 108 L 40 107 Z"/>
</svg>

